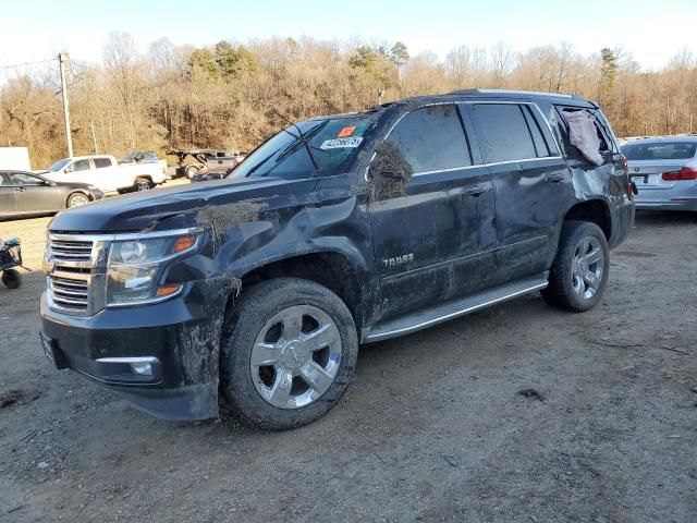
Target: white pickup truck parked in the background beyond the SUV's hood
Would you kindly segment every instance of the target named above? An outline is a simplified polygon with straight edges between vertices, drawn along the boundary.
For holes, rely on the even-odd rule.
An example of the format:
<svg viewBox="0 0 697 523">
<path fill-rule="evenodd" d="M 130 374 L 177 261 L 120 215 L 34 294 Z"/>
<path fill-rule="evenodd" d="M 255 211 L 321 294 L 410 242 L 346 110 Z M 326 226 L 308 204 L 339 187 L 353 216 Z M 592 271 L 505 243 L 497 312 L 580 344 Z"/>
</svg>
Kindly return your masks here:
<svg viewBox="0 0 697 523">
<path fill-rule="evenodd" d="M 113 156 L 63 158 L 46 171 L 54 182 L 88 183 L 103 193 L 147 191 L 167 180 L 167 167 L 159 162 L 119 163 Z"/>
</svg>

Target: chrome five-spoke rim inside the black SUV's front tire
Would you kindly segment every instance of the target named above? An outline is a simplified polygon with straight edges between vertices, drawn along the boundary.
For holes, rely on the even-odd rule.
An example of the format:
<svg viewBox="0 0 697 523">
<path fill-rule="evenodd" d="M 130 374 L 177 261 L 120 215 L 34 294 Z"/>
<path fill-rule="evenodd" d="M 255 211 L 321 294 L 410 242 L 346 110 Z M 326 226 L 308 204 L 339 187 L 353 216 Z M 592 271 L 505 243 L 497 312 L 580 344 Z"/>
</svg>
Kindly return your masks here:
<svg viewBox="0 0 697 523">
<path fill-rule="evenodd" d="M 249 358 L 254 386 L 279 409 L 299 409 L 321 397 L 341 363 L 337 324 L 311 305 L 293 305 L 269 319 Z"/>
</svg>

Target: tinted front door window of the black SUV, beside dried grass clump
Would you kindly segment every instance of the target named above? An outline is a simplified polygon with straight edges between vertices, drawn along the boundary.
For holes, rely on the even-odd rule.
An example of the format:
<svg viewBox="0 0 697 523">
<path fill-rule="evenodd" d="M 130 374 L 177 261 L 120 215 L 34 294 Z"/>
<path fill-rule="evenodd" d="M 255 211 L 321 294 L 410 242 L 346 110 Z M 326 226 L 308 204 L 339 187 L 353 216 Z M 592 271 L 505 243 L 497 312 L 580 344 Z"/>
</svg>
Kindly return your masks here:
<svg viewBox="0 0 697 523">
<path fill-rule="evenodd" d="M 428 106 L 406 114 L 388 136 L 414 172 L 470 166 L 454 105 Z"/>
</svg>

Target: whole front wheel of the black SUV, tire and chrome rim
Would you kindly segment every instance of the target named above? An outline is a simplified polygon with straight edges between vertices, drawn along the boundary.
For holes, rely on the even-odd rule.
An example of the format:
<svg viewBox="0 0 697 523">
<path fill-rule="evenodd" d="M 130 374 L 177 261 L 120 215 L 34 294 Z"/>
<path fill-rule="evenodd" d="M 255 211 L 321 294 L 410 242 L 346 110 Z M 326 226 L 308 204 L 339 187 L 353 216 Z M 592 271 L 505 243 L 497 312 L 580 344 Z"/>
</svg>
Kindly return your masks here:
<svg viewBox="0 0 697 523">
<path fill-rule="evenodd" d="M 220 352 L 225 406 L 248 425 L 283 430 L 317 419 L 341 399 L 358 337 L 337 294 L 278 278 L 243 291 L 225 319 Z"/>
</svg>

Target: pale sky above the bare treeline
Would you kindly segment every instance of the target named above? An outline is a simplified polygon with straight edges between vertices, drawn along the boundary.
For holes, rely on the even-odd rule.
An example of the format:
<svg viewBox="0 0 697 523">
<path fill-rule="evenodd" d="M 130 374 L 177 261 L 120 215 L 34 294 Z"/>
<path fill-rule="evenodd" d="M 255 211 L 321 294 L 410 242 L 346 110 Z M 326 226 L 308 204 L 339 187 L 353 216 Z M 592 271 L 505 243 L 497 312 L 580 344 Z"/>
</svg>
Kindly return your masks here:
<svg viewBox="0 0 697 523">
<path fill-rule="evenodd" d="M 568 41 L 582 54 L 623 46 L 645 69 L 661 68 L 683 49 L 697 54 L 697 0 L 5 0 L 0 20 L 0 66 L 59 50 L 99 61 L 113 31 L 131 33 L 143 50 L 161 37 L 205 46 L 308 35 L 402 40 L 411 54 L 432 50 L 441 59 L 458 45 L 498 40 L 516 51 Z"/>
</svg>

